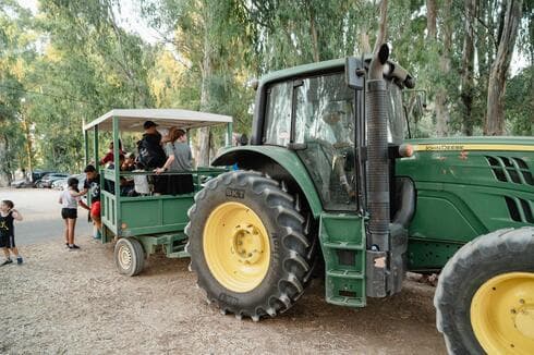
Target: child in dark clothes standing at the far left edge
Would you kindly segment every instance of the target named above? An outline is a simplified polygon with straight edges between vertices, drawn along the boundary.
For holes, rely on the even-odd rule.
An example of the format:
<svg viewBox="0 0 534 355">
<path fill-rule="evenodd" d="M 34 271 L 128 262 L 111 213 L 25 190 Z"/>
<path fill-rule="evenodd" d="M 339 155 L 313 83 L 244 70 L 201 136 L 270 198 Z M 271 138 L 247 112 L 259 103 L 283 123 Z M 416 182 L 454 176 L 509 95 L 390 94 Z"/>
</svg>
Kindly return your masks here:
<svg viewBox="0 0 534 355">
<path fill-rule="evenodd" d="M 16 258 L 16 264 L 22 264 L 22 257 L 19 255 L 19 249 L 15 246 L 15 228 L 13 221 L 22 221 L 22 215 L 14 209 L 15 205 L 4 199 L 0 203 L 0 247 L 3 248 L 5 261 L 1 266 L 13 262 L 10 257 L 10 252 Z"/>
</svg>

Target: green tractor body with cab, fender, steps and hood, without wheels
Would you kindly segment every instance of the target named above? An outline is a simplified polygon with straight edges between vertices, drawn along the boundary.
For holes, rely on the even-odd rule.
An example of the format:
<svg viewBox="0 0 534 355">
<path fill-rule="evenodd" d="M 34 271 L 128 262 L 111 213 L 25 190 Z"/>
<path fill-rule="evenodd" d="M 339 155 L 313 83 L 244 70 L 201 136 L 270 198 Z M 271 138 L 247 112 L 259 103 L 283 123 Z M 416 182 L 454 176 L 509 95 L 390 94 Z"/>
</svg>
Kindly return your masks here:
<svg viewBox="0 0 534 355">
<path fill-rule="evenodd" d="M 365 66 L 360 59 L 355 63 Z M 296 185 L 292 192 L 300 192 L 296 195 L 306 200 L 317 225 L 327 302 L 363 307 L 367 295 L 380 294 L 372 290 L 373 284 L 387 285 L 381 296 L 392 294 L 400 290 L 401 273 L 408 270 L 438 272 L 473 238 L 502 228 L 534 224 L 534 139 L 404 140 L 402 85 L 395 85 L 390 76 L 388 142 L 390 147 L 409 143 L 415 148 L 410 158 L 391 158 L 391 187 L 399 179 L 412 182 L 415 208 L 409 221 L 390 224 L 391 249 L 385 255 L 388 262 L 398 264 L 388 264 L 389 271 L 380 276 L 380 254 L 371 245 L 365 198 L 349 199 L 340 188 L 344 180 L 356 185 L 356 197 L 362 188 L 365 192 L 362 170 L 368 163 L 366 138 L 359 137 L 359 130 L 366 132 L 368 108 L 362 110 L 362 103 L 367 91 L 363 86 L 347 86 L 347 65 L 349 61 L 332 60 L 264 76 L 257 89 L 252 145 L 227 149 L 214 161 L 215 166 L 238 163 L 240 169 L 262 171 Z M 342 115 L 338 126 L 325 113 L 330 107 Z M 343 114 L 352 118 L 352 124 Z M 328 135 L 330 130 L 338 131 Z M 345 136 L 348 144 L 340 148 L 343 134 Z M 340 196 L 335 204 L 333 194 Z M 390 196 L 393 218 L 400 207 L 393 204 L 395 193 Z M 392 273 L 397 276 L 390 277 Z"/>
</svg>

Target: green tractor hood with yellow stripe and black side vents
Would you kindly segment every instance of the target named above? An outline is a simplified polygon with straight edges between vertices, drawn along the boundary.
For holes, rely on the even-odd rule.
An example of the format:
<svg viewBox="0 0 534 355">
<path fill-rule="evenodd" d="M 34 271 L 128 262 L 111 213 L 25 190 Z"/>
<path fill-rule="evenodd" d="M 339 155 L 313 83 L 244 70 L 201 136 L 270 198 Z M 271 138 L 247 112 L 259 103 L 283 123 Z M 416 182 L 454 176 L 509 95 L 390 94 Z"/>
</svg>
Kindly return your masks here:
<svg viewBox="0 0 534 355">
<path fill-rule="evenodd" d="M 406 140 L 399 159 L 417 194 L 410 223 L 409 268 L 440 270 L 463 244 L 503 228 L 534 224 L 534 140 L 473 137 Z"/>
</svg>

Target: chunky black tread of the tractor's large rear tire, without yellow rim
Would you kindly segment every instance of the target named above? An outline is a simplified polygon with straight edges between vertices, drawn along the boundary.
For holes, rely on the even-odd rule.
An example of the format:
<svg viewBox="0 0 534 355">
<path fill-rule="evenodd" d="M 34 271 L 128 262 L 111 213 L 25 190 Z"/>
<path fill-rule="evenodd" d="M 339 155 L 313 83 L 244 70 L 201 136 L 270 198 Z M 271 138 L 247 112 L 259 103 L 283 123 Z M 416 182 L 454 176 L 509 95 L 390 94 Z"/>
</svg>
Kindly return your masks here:
<svg viewBox="0 0 534 355">
<path fill-rule="evenodd" d="M 222 186 L 221 186 L 222 185 Z M 282 191 L 280 183 L 256 171 L 232 171 L 220 174 L 206 184 L 206 188 L 195 195 L 195 204 L 189 210 L 190 222 L 185 233 L 190 237 L 187 250 L 191 250 L 191 238 L 199 237 L 191 235 L 195 215 L 201 206 L 209 198 L 209 192 L 224 186 L 248 187 L 255 194 L 256 198 L 263 199 L 264 205 L 268 206 L 274 220 L 283 231 L 280 235 L 280 247 L 287 248 L 287 256 L 281 262 L 282 274 L 279 277 L 276 292 L 267 295 L 263 304 L 255 305 L 251 308 L 235 307 L 229 303 L 217 299 L 204 283 L 199 274 L 199 266 L 195 262 L 195 256 L 192 255 L 192 270 L 197 274 L 197 284 L 206 292 L 207 298 L 216 304 L 221 311 L 233 313 L 236 317 L 246 316 L 254 321 L 262 317 L 275 317 L 289 309 L 294 302 L 302 295 L 306 284 L 307 272 L 311 265 L 307 260 L 312 243 L 304 234 L 304 223 L 306 219 L 295 209 L 295 198 Z"/>
</svg>

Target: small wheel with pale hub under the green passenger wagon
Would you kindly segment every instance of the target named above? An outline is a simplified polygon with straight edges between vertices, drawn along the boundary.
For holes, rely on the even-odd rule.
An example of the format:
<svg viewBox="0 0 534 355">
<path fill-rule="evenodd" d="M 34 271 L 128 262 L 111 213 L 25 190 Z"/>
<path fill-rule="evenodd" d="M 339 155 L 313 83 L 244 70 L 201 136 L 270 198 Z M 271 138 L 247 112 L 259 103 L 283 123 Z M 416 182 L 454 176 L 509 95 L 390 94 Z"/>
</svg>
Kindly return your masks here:
<svg viewBox="0 0 534 355">
<path fill-rule="evenodd" d="M 122 237 L 117 241 L 113 258 L 117 270 L 129 277 L 138 274 L 145 266 L 143 245 L 133 237 Z"/>
</svg>

